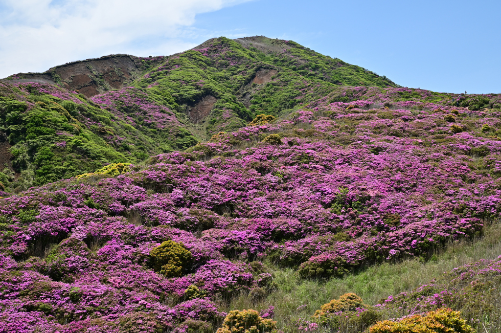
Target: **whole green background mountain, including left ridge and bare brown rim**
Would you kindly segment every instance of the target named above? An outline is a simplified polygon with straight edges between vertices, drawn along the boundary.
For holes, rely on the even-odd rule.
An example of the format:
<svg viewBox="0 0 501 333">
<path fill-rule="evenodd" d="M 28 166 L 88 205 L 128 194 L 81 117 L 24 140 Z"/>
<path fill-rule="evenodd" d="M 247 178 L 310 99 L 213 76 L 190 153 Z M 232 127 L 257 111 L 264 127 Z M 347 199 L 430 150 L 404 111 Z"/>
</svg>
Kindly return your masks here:
<svg viewBox="0 0 501 333">
<path fill-rule="evenodd" d="M 395 86 L 265 37 L 221 37 L 170 57 L 105 56 L 13 75 L 0 83 L 4 187 L 19 192 L 183 150 L 241 128 L 257 113 L 300 108 L 342 84 Z"/>
</svg>

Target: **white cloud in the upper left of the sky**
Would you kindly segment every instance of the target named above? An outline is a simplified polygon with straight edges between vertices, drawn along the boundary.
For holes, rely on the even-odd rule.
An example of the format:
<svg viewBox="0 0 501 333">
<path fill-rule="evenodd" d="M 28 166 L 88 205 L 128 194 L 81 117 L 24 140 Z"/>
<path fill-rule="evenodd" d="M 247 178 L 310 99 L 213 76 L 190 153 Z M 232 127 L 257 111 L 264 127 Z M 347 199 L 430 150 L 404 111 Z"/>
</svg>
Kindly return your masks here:
<svg viewBox="0 0 501 333">
<path fill-rule="evenodd" d="M 245 1 L 3 0 L 0 78 L 108 54 L 181 52 L 195 46 L 183 37 L 193 37 L 196 14 Z"/>
</svg>

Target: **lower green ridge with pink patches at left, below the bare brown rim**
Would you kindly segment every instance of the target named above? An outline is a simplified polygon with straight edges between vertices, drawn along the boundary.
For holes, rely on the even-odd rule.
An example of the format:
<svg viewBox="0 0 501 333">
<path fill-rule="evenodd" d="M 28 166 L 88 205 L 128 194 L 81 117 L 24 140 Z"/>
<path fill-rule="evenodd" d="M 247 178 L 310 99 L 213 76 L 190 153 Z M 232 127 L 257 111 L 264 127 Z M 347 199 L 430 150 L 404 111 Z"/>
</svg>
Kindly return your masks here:
<svg viewBox="0 0 501 333">
<path fill-rule="evenodd" d="M 19 192 L 196 144 L 169 109 L 141 91 L 124 91 L 128 100 L 105 109 L 53 85 L 0 83 L 3 189 Z"/>
</svg>

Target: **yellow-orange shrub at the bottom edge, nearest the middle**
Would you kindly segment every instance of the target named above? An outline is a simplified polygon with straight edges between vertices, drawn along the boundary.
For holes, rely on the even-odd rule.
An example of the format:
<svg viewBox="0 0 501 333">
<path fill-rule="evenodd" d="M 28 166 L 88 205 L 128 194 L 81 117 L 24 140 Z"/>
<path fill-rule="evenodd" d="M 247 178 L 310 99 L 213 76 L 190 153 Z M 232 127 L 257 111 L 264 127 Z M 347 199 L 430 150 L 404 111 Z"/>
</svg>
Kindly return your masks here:
<svg viewBox="0 0 501 333">
<path fill-rule="evenodd" d="M 253 309 L 233 310 L 224 318 L 222 327 L 216 333 L 265 333 L 276 332 L 277 322 L 264 319 Z"/>
</svg>

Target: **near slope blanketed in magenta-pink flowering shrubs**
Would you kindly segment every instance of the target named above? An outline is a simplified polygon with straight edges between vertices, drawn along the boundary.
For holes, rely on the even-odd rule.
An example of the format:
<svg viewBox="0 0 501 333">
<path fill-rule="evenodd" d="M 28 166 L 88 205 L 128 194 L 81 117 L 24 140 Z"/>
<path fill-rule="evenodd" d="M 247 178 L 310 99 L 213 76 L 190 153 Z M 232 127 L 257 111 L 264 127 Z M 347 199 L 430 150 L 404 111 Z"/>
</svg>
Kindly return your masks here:
<svg viewBox="0 0 501 333">
<path fill-rule="evenodd" d="M 1 199 L 3 328 L 210 331 L 218 306 L 276 288 L 267 263 L 330 279 L 480 236 L 501 211 L 499 96 L 338 89 L 127 174 Z M 487 107 L 455 106 L 473 100 Z"/>
</svg>

